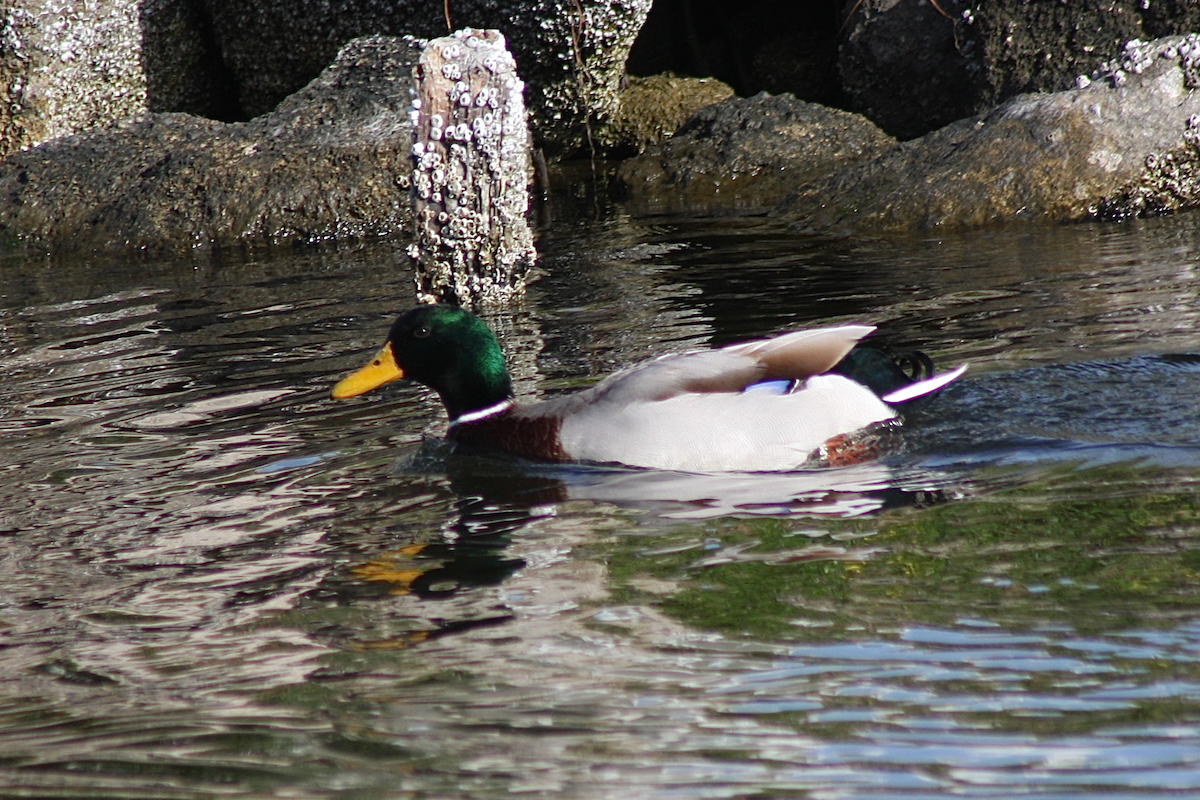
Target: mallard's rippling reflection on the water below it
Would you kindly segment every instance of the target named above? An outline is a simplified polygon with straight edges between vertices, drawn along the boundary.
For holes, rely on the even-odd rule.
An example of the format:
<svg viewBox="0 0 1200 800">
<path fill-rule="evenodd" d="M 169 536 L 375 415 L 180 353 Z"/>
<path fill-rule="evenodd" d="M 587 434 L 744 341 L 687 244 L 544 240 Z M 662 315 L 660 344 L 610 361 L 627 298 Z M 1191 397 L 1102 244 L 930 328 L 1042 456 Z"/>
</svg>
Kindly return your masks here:
<svg viewBox="0 0 1200 800">
<path fill-rule="evenodd" d="M 672 473 L 592 464 L 541 464 L 454 452 L 427 441 L 401 467 L 444 477 L 456 512 L 440 541 L 389 551 L 354 569 L 390 594 L 448 599 L 503 583 L 524 566 L 510 558 L 512 536 L 571 500 L 606 503 L 671 521 L 754 516 L 853 517 L 943 501 L 955 481 L 926 468 L 874 462 L 792 473 Z M 476 618 L 469 625 L 498 622 Z M 454 630 L 460 630 L 456 624 Z M 437 633 L 449 630 L 438 628 Z"/>
</svg>

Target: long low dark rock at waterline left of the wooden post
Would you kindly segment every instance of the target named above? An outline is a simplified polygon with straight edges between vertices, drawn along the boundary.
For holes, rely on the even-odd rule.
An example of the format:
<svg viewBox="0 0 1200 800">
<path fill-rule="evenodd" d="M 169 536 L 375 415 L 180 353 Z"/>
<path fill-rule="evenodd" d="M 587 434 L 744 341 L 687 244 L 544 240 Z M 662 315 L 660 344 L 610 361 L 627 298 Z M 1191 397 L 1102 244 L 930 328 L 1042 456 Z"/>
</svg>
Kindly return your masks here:
<svg viewBox="0 0 1200 800">
<path fill-rule="evenodd" d="M 143 114 L 0 162 L 0 239 L 168 249 L 410 230 L 409 90 L 419 48 L 350 42 L 245 124 Z"/>
</svg>

